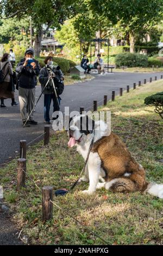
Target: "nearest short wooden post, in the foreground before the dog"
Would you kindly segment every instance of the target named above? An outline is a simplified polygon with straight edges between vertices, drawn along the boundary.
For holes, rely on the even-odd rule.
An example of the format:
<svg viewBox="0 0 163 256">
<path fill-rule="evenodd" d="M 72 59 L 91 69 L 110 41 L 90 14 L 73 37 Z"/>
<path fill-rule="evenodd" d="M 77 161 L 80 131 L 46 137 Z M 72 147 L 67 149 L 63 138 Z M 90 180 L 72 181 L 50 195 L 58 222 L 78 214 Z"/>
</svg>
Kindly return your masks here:
<svg viewBox="0 0 163 256">
<path fill-rule="evenodd" d="M 42 187 L 42 221 L 47 221 L 53 218 L 53 187 Z"/>
</svg>

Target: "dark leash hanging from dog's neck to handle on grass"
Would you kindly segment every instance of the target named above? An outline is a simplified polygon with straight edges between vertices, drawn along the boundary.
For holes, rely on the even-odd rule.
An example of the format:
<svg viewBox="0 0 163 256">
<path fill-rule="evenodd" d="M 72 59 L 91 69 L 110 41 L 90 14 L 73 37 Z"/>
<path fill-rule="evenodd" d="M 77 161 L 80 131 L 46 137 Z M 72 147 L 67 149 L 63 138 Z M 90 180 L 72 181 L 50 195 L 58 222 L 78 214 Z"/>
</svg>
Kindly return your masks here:
<svg viewBox="0 0 163 256">
<path fill-rule="evenodd" d="M 94 143 L 94 138 L 95 138 L 95 130 L 93 130 L 93 137 L 92 137 L 92 141 L 91 141 L 91 144 L 90 144 L 90 147 L 89 147 L 89 151 L 87 153 L 87 157 L 86 157 L 86 160 L 85 160 L 85 163 L 84 163 L 84 167 L 83 167 L 82 172 L 80 173 L 78 179 L 74 182 L 74 184 L 70 187 L 69 190 L 66 190 L 66 188 L 61 188 L 60 190 L 56 190 L 55 191 L 55 196 L 64 196 L 66 193 L 73 190 L 73 188 L 78 184 L 79 179 L 81 178 L 82 174 L 85 172 L 86 164 L 87 164 L 87 161 L 89 159 L 91 149 L 92 149 L 92 146 L 93 146 L 93 143 Z"/>
</svg>

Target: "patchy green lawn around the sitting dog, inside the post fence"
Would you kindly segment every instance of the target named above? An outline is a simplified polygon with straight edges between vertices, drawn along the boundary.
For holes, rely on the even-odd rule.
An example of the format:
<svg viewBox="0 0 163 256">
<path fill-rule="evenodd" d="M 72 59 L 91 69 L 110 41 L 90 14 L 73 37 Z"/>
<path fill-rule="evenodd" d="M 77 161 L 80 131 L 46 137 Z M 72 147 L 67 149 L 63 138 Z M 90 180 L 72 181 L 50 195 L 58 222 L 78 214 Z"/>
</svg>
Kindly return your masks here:
<svg viewBox="0 0 163 256">
<path fill-rule="evenodd" d="M 112 113 L 112 130 L 127 144 L 131 154 L 146 168 L 149 181 L 163 182 L 163 120 L 153 107 L 143 104 L 146 96 L 163 90 L 162 81 L 147 83 L 129 94 L 116 97 L 103 109 Z M 27 173 L 42 188 L 66 187 L 77 179 L 84 161 L 76 149 L 67 148 L 66 132 L 51 135 L 49 145 L 33 145 L 27 153 Z M 5 202 L 14 211 L 14 221 L 30 244 L 103 245 L 80 224 L 96 231 L 108 245 L 162 245 L 163 200 L 146 193 L 111 193 L 104 188 L 91 196 L 81 193 L 88 184 L 77 185 L 65 197 L 54 198 L 64 210 L 54 210 L 51 221 L 41 221 L 41 192 L 27 178 L 27 187 L 16 192 L 16 160 L 0 169 Z"/>
</svg>

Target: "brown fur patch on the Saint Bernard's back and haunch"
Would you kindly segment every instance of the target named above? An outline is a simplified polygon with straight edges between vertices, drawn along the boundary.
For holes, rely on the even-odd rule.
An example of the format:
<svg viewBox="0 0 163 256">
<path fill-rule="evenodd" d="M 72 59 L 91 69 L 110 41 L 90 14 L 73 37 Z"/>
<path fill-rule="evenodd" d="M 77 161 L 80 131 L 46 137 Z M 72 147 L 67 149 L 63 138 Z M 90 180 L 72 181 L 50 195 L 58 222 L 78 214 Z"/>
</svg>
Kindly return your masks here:
<svg viewBox="0 0 163 256">
<path fill-rule="evenodd" d="M 144 191 L 147 188 L 145 169 L 129 153 L 126 145 L 113 132 L 93 144 L 93 153 L 97 152 L 102 161 L 105 181 L 117 179 L 109 190 L 114 192 Z M 130 174 L 124 176 L 125 173 Z"/>
</svg>

